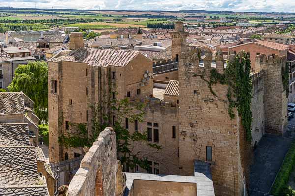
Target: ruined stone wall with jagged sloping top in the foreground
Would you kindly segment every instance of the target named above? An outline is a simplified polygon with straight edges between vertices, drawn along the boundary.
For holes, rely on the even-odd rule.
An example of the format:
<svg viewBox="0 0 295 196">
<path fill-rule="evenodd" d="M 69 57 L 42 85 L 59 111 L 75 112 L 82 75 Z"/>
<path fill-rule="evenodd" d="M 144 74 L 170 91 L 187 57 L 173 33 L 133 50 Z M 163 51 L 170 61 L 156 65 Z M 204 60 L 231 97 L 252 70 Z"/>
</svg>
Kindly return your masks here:
<svg viewBox="0 0 295 196">
<path fill-rule="evenodd" d="M 116 187 L 124 184 L 122 181 L 125 178 L 122 172 L 117 173 L 117 164 L 115 132 L 112 128 L 106 128 L 85 154 L 68 187 L 67 196 L 119 195 Z"/>
</svg>

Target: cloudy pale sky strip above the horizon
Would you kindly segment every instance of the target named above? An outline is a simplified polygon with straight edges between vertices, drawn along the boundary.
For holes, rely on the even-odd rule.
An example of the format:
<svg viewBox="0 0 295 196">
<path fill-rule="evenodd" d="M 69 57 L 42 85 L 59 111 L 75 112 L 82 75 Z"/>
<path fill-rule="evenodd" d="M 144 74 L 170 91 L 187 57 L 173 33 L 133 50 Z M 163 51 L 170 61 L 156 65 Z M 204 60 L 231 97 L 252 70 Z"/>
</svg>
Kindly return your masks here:
<svg viewBox="0 0 295 196">
<path fill-rule="evenodd" d="M 295 0 L 0 0 L 0 6 L 64 9 L 295 12 Z"/>
</svg>

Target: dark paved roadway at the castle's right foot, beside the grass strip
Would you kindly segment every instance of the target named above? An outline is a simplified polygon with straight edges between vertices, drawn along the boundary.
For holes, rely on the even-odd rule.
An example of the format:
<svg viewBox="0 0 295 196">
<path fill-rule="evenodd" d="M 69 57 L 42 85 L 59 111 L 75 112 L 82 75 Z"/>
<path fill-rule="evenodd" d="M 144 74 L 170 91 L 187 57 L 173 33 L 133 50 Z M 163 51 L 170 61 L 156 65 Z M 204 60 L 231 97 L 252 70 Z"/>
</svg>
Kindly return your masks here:
<svg viewBox="0 0 295 196">
<path fill-rule="evenodd" d="M 254 150 L 253 164 L 250 166 L 250 189 L 268 193 L 280 169 L 282 161 L 295 138 L 295 117 L 288 122 L 284 137 L 266 134 Z M 250 196 L 264 196 L 250 192 Z"/>
</svg>

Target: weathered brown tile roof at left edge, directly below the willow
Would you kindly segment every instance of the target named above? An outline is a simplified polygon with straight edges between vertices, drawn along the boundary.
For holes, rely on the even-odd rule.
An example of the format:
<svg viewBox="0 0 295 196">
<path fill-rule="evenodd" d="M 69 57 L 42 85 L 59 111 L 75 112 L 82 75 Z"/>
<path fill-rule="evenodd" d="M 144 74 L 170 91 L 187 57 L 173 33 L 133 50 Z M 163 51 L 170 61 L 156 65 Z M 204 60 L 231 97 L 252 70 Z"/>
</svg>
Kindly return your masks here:
<svg viewBox="0 0 295 196">
<path fill-rule="evenodd" d="M 0 115 L 25 114 L 24 95 L 17 93 L 0 93 Z"/>
</svg>

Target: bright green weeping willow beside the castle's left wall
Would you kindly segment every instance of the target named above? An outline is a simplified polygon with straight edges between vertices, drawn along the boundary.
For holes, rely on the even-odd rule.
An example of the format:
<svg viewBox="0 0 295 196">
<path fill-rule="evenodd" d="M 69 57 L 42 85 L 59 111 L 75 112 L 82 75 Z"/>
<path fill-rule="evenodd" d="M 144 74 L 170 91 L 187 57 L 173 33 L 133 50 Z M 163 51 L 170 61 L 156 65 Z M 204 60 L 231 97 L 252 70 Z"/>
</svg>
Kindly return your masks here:
<svg viewBox="0 0 295 196">
<path fill-rule="evenodd" d="M 35 102 L 34 112 L 40 120 L 48 121 L 48 66 L 45 62 L 19 65 L 8 86 L 11 92 L 25 93 Z"/>
</svg>

